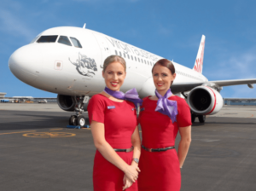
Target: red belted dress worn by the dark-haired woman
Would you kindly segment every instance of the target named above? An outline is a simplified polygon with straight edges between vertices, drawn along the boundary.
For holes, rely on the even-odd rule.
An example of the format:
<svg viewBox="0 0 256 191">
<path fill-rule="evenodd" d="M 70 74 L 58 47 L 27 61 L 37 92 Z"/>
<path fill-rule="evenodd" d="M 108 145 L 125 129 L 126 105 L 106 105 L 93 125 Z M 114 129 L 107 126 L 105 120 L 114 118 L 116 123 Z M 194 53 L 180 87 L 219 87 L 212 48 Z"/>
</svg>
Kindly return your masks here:
<svg viewBox="0 0 256 191">
<path fill-rule="evenodd" d="M 143 99 L 139 122 L 143 132 L 142 145 L 146 148 L 167 148 L 175 145 L 178 128 L 191 125 L 190 108 L 178 96 L 169 100 L 177 101 L 177 122 L 155 112 L 157 101 Z M 141 173 L 138 177 L 139 191 L 178 191 L 181 187 L 179 161 L 175 149 L 162 152 L 148 152 L 142 148 L 139 161 Z"/>
</svg>

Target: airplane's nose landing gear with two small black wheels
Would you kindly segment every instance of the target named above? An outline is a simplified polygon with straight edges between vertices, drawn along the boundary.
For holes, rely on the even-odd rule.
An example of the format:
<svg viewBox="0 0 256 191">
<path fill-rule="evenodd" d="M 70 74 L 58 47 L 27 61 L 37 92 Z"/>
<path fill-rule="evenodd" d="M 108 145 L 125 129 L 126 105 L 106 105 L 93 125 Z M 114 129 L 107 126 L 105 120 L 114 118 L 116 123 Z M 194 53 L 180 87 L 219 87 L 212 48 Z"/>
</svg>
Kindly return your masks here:
<svg viewBox="0 0 256 191">
<path fill-rule="evenodd" d="M 90 100 L 89 96 L 79 96 L 75 97 L 76 106 L 75 106 L 75 115 L 70 116 L 69 124 L 70 125 L 79 125 L 80 127 L 84 127 L 87 124 L 87 120 L 84 118 L 82 113 L 87 109 L 88 102 Z M 89 124 L 89 123 L 88 123 Z"/>
</svg>

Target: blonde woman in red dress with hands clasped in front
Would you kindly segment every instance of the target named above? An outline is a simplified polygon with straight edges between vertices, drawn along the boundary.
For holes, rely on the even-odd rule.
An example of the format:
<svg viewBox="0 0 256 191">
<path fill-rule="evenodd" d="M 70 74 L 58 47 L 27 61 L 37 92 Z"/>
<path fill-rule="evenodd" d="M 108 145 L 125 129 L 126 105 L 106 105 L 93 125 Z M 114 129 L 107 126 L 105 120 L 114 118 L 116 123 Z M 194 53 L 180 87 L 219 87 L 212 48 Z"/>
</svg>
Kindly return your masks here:
<svg viewBox="0 0 256 191">
<path fill-rule="evenodd" d="M 96 146 L 93 167 L 95 191 L 137 191 L 141 144 L 135 104 L 126 101 L 125 94 L 119 91 L 125 80 L 125 69 L 123 58 L 109 56 L 104 61 L 102 72 L 106 88 L 92 96 L 88 105 Z M 138 96 L 135 100 L 140 102 Z"/>
</svg>

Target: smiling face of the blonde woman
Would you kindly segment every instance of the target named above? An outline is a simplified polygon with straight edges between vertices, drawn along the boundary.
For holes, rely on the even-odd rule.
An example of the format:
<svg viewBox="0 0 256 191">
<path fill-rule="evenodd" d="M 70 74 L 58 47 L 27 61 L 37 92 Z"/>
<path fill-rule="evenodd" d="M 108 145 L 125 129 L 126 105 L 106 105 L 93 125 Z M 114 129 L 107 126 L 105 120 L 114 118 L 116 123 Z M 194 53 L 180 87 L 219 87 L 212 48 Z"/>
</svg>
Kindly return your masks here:
<svg viewBox="0 0 256 191">
<path fill-rule="evenodd" d="M 125 67 L 118 61 L 114 61 L 108 65 L 105 72 L 102 72 L 102 77 L 105 79 L 105 84 L 110 90 L 119 91 L 125 81 Z"/>
</svg>

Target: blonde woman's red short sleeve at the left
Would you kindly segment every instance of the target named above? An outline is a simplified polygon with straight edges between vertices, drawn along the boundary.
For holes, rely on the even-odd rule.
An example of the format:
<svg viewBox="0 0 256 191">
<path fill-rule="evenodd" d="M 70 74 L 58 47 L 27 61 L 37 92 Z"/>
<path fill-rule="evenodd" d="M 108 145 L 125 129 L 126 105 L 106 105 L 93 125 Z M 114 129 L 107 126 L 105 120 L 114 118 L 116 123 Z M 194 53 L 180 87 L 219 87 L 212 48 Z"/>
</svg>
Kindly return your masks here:
<svg viewBox="0 0 256 191">
<path fill-rule="evenodd" d="M 90 123 L 92 120 L 94 120 L 103 124 L 105 118 L 105 108 L 105 102 L 100 96 L 92 96 L 87 107 Z"/>
</svg>

